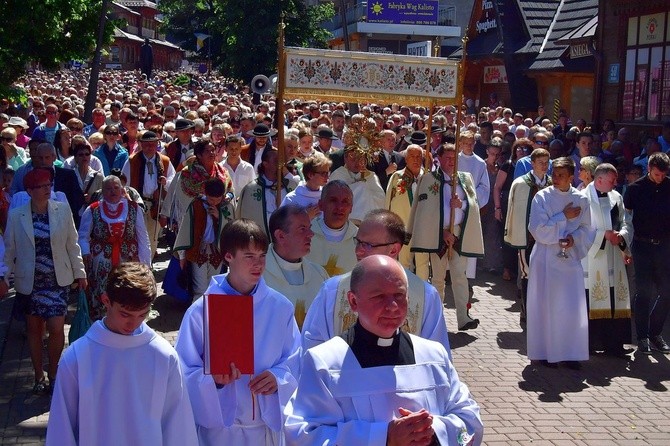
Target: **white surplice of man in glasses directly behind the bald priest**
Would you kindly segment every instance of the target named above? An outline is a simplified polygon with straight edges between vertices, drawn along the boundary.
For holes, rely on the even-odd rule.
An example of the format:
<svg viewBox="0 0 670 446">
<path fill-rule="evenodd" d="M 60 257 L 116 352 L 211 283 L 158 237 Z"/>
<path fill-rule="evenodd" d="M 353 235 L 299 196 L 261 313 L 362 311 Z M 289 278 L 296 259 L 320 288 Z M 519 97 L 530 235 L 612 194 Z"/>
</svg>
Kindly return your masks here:
<svg viewBox="0 0 670 446">
<path fill-rule="evenodd" d="M 407 276 L 414 276 L 405 270 Z M 335 332 L 335 301 L 337 300 L 337 288 L 342 276 L 331 277 L 326 281 L 319 293 L 314 298 L 312 305 L 307 311 L 305 323 L 302 327 L 303 353 L 307 349 L 326 342 L 338 336 Z M 451 347 L 449 346 L 449 335 L 447 323 L 444 320 L 444 309 L 442 299 L 434 286 L 423 281 L 423 296 L 415 299 L 423 299 L 423 318 L 421 323 L 421 337 L 432 339 L 442 344 L 451 358 Z M 412 299 L 410 299 L 412 300 Z"/>
</svg>

